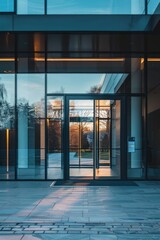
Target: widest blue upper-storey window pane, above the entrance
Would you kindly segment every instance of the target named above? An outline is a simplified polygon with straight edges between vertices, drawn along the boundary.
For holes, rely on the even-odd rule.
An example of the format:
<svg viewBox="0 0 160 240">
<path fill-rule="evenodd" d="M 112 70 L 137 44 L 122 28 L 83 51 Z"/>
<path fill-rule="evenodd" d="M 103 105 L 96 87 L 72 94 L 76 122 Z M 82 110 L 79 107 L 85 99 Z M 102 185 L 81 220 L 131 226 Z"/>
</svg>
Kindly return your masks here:
<svg viewBox="0 0 160 240">
<path fill-rule="evenodd" d="M 143 14 L 144 0 L 47 0 L 47 14 Z M 122 7 L 123 6 L 123 7 Z"/>
</svg>

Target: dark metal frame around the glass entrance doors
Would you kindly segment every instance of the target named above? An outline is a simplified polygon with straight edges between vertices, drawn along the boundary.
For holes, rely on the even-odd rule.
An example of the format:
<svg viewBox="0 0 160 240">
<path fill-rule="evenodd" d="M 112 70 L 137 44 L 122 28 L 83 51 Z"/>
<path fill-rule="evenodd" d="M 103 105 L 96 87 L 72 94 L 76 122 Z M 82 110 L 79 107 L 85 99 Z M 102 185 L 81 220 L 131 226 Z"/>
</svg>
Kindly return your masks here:
<svg viewBox="0 0 160 240">
<path fill-rule="evenodd" d="M 56 95 L 56 94 L 55 94 Z M 58 95 L 58 94 L 57 94 Z M 70 100 L 119 100 L 121 103 L 120 109 L 120 180 L 127 178 L 127 163 L 126 163 L 126 136 L 125 136 L 125 99 L 121 95 L 115 94 L 63 94 L 64 96 L 64 125 L 63 125 L 63 156 L 64 156 L 64 179 L 70 179 L 70 164 L 69 164 L 69 101 Z M 95 108 L 94 108 L 95 112 Z M 95 116 L 95 113 L 94 113 Z M 95 122 L 95 119 L 94 119 Z M 93 123 L 95 125 L 95 123 Z M 95 150 L 94 150 L 95 154 Z M 93 180 L 95 176 L 95 156 L 93 156 Z M 77 177 L 78 179 L 78 177 Z M 106 177 L 105 179 L 109 179 Z"/>
</svg>

